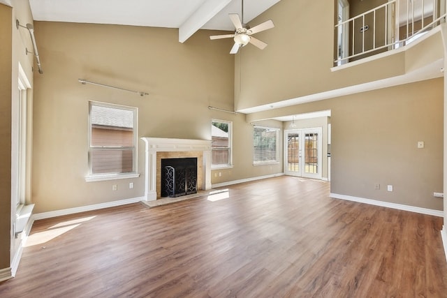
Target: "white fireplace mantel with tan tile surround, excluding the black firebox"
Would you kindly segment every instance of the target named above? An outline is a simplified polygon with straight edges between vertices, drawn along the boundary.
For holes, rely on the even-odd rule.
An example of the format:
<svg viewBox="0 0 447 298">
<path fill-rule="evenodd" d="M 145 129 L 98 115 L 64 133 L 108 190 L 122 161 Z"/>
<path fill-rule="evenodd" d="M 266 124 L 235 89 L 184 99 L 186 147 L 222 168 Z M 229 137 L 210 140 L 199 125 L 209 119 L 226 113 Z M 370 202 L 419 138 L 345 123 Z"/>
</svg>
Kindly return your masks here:
<svg viewBox="0 0 447 298">
<path fill-rule="evenodd" d="M 211 189 L 211 141 L 142 137 L 145 152 L 145 200 L 161 198 L 163 176 L 161 161 L 172 158 L 196 158 L 196 191 Z"/>
</svg>

